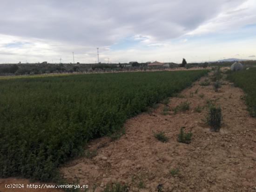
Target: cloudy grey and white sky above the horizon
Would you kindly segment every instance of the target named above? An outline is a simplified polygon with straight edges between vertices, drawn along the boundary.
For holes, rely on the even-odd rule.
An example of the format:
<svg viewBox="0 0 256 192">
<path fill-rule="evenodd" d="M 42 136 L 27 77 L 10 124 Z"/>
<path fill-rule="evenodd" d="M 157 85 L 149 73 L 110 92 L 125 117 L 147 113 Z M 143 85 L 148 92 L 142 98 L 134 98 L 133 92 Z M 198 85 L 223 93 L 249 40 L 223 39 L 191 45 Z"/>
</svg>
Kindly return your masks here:
<svg viewBox="0 0 256 192">
<path fill-rule="evenodd" d="M 0 0 L 0 63 L 256 60 L 255 0 Z"/>
</svg>

